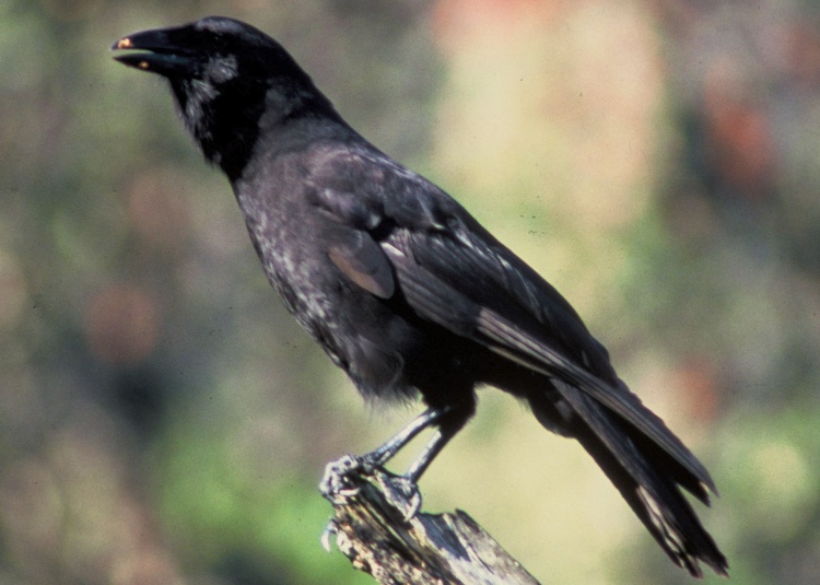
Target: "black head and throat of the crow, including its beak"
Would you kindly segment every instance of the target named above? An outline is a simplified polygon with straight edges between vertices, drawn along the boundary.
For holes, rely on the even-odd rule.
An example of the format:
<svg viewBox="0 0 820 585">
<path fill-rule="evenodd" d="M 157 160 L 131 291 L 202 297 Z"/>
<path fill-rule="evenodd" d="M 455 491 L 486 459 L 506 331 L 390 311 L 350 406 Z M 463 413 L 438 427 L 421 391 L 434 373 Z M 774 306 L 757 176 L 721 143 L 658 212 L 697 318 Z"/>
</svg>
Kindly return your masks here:
<svg viewBox="0 0 820 585">
<path fill-rule="evenodd" d="M 206 159 L 232 179 L 241 176 L 262 127 L 304 116 L 338 118 L 279 43 L 234 19 L 142 31 L 112 49 L 117 61 L 168 80 Z"/>
</svg>

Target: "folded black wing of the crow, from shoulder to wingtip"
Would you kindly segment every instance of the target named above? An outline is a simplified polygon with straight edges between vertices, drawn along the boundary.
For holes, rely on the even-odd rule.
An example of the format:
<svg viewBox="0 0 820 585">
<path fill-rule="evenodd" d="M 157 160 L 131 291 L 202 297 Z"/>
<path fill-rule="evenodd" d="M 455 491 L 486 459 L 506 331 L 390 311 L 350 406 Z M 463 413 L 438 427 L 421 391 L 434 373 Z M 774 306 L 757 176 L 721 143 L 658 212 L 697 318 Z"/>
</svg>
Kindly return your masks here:
<svg viewBox="0 0 820 585">
<path fill-rule="evenodd" d="M 348 150 L 326 163 L 316 204 L 356 234 L 329 253 L 353 282 L 382 297 L 400 289 L 421 317 L 565 383 L 554 386 L 570 405 L 577 388 L 688 470 L 696 481 L 683 483 L 701 500 L 704 485 L 715 491 L 700 461 L 618 378 L 572 306 L 455 200 L 383 155 Z M 609 441 L 602 430 L 600 438 Z"/>
</svg>

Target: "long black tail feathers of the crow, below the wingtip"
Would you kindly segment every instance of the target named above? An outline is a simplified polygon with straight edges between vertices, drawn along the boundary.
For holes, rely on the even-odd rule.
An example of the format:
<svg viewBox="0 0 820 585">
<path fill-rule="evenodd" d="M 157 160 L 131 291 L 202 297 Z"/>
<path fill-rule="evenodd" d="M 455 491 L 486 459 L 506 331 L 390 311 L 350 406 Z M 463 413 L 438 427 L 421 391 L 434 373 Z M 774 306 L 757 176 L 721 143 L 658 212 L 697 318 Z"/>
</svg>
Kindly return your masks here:
<svg viewBox="0 0 820 585">
<path fill-rule="evenodd" d="M 726 558 L 679 489 L 686 488 L 708 505 L 703 478 L 693 476 L 588 395 L 559 379 L 553 378 L 552 384 L 567 403 L 557 408 L 546 395 L 530 394 L 536 418 L 554 431 L 555 413 L 564 414 L 560 424 L 563 434 L 576 438 L 593 456 L 672 562 L 694 577 L 703 576 L 701 562 L 728 576 Z M 573 416 L 566 417 L 567 406 Z"/>
</svg>

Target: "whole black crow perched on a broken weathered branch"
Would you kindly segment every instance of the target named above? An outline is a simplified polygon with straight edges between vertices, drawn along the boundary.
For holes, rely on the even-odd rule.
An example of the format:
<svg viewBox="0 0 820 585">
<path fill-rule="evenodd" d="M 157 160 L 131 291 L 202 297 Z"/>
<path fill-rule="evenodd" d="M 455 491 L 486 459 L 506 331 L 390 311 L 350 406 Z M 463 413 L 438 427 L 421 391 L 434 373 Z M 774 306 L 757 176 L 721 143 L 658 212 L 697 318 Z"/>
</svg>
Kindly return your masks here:
<svg viewBox="0 0 820 585">
<path fill-rule="evenodd" d="M 366 398 L 427 410 L 353 460 L 379 467 L 436 432 L 415 481 L 476 409 L 476 387 L 526 400 L 577 440 L 675 563 L 726 574 L 680 488 L 708 504 L 708 472 L 616 374 L 546 280 L 442 189 L 353 130 L 282 46 L 211 16 L 118 40 L 115 58 L 171 84 L 204 157 L 227 175 L 288 309 Z"/>
</svg>

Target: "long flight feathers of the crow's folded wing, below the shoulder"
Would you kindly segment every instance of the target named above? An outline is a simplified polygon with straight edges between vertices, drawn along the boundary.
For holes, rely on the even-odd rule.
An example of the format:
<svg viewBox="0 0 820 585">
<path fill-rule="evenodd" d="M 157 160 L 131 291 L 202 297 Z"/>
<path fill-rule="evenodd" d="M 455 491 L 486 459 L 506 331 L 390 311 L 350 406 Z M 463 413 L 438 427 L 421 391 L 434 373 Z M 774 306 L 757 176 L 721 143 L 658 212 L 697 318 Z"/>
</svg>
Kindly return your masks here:
<svg viewBox="0 0 820 585">
<path fill-rule="evenodd" d="M 459 226 L 455 233 L 438 234 L 431 246 L 430 235 L 405 232 L 382 247 L 408 303 L 422 316 L 567 383 L 569 388 L 564 384 L 555 387 L 571 405 L 576 402 L 571 389 L 582 390 L 715 491 L 706 469 L 618 378 L 604 348 L 575 313 L 565 309 L 559 293 L 488 236 L 475 226 Z M 459 307 L 459 314 L 454 315 L 453 307 Z M 706 501 L 703 487 L 687 483 L 687 488 Z"/>
</svg>

